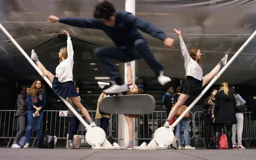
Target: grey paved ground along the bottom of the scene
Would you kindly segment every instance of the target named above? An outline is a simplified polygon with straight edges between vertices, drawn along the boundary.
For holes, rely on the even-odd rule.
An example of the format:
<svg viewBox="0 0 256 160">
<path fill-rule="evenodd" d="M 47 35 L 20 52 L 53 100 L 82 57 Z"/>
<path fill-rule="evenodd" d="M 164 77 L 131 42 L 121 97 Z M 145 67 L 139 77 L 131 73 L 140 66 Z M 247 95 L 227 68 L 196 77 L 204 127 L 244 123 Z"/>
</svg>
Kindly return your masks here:
<svg viewBox="0 0 256 160">
<path fill-rule="evenodd" d="M 256 149 L 244 150 L 91 150 L 0 148 L 1 160 L 234 160 L 256 159 Z"/>
</svg>

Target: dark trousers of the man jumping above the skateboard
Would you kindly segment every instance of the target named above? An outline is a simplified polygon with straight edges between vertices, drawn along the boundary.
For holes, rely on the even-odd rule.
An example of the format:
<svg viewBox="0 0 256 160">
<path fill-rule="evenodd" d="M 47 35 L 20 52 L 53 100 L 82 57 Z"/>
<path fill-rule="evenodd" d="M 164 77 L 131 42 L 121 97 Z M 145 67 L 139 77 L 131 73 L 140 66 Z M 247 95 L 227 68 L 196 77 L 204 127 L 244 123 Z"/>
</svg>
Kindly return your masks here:
<svg viewBox="0 0 256 160">
<path fill-rule="evenodd" d="M 159 71 L 164 67 L 156 61 L 145 39 L 137 39 L 134 46 L 126 49 L 115 47 L 100 47 L 93 51 L 94 56 L 99 60 L 102 67 L 105 69 L 110 79 L 116 80 L 120 78 L 120 73 L 112 60 L 125 63 L 132 60 L 144 59 L 156 77 L 159 76 Z"/>
</svg>

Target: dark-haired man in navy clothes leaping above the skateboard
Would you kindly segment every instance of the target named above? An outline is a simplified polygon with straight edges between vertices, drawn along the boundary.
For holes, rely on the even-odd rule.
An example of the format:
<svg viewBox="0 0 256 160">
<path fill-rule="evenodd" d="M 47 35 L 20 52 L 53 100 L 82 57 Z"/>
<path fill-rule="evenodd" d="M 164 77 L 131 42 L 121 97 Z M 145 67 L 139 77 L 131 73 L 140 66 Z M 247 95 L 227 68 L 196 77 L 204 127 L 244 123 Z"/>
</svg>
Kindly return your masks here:
<svg viewBox="0 0 256 160">
<path fill-rule="evenodd" d="M 141 30 L 164 42 L 166 47 L 173 49 L 174 40 L 152 23 L 146 22 L 139 17 L 133 16 L 126 11 L 116 11 L 114 6 L 103 1 L 95 6 L 94 18 L 59 18 L 49 16 L 49 22 L 60 22 L 75 27 L 92 28 L 103 30 L 114 42 L 116 47 L 100 47 L 94 50 L 95 57 L 106 70 L 111 80 L 116 84 L 103 90 L 104 93 L 127 92 L 129 87 L 121 79 L 119 70 L 112 60 L 125 63 L 133 60 L 144 59 L 151 70 L 155 73 L 159 83 L 164 85 L 171 81 L 163 76 L 164 67 L 156 61 L 147 41 L 138 31 Z"/>
</svg>

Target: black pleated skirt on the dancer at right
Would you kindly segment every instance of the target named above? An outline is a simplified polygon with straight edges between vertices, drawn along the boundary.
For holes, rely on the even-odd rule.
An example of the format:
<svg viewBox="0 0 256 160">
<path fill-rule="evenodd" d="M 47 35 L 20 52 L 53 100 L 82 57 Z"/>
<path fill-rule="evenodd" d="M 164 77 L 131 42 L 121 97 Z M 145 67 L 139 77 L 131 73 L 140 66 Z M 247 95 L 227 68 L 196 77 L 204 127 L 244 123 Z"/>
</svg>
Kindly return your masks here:
<svg viewBox="0 0 256 160">
<path fill-rule="evenodd" d="M 203 80 L 200 81 L 191 76 L 187 76 L 186 78 L 187 79 L 180 89 L 180 93 L 190 96 L 198 96 L 202 90 Z"/>
</svg>

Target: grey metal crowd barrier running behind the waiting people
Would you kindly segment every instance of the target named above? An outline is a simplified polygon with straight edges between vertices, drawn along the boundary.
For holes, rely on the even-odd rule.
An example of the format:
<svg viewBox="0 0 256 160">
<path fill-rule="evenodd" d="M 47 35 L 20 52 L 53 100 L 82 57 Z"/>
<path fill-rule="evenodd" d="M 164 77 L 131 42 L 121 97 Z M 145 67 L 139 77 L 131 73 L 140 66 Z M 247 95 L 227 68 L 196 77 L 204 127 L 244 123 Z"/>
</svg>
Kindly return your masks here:
<svg viewBox="0 0 256 160">
<path fill-rule="evenodd" d="M 0 139 L 5 139 L 4 143 L 7 143 L 7 147 L 10 145 L 11 140 L 16 136 L 18 128 L 18 118 L 15 117 L 16 110 L 0 110 Z M 96 111 L 88 111 L 91 117 L 95 117 Z M 244 112 L 244 127 L 242 140 L 247 146 L 252 141 L 256 141 L 256 121 L 250 120 L 251 112 Z M 203 145 L 205 146 L 205 125 L 204 121 L 200 119 L 202 112 L 190 112 L 190 120 L 192 123 L 189 124 L 189 140 L 192 145 Z M 59 116 L 59 111 L 44 111 L 44 117 L 42 122 L 42 133 L 55 135 L 58 139 L 67 139 L 67 133 L 69 131 L 69 120 L 67 117 Z M 166 119 L 166 112 L 156 111 L 152 114 L 144 114 L 138 118 L 138 138 L 136 140 L 140 141 L 150 141 L 153 139 L 153 134 L 156 129 L 162 127 Z M 86 120 L 86 122 L 88 122 Z M 96 124 L 99 120 L 96 120 Z M 98 125 L 99 126 L 99 125 Z M 210 139 L 213 140 L 214 132 L 211 129 Z M 78 135 L 82 135 L 81 145 L 89 145 L 85 139 L 85 127 L 80 123 Z M 118 115 L 111 114 L 111 119 L 109 123 L 109 130 L 107 130 L 107 139 L 112 142 L 119 143 L 120 138 L 118 138 Z M 181 135 L 182 141 L 184 140 L 183 134 Z M 34 123 L 34 128 L 32 132 L 31 139 L 34 139 L 32 147 L 35 143 L 36 137 L 36 124 Z M 2 145 L 1 144 L 1 145 Z"/>
</svg>

